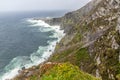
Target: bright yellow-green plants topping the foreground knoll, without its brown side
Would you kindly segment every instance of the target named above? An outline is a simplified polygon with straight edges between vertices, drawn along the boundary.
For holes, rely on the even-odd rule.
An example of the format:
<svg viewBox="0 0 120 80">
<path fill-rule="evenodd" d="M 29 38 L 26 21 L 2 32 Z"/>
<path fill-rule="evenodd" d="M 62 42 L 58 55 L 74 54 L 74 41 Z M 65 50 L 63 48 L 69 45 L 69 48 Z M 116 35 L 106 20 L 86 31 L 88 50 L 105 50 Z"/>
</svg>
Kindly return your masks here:
<svg viewBox="0 0 120 80">
<path fill-rule="evenodd" d="M 41 80 L 100 80 L 79 70 L 70 63 L 56 65 L 48 70 Z"/>
</svg>

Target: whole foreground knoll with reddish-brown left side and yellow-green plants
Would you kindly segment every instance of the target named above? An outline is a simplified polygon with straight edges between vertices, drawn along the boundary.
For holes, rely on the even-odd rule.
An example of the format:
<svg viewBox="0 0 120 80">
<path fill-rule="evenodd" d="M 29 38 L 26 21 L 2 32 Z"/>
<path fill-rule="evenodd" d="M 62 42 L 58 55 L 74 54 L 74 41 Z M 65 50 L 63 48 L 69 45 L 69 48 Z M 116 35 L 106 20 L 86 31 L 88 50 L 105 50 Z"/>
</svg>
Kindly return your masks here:
<svg viewBox="0 0 120 80">
<path fill-rule="evenodd" d="M 14 80 L 100 80 L 90 74 L 82 72 L 77 66 L 70 63 L 45 63 L 36 69 L 26 70 Z M 30 72 L 33 71 L 33 74 Z M 26 74 L 26 75 L 24 75 Z"/>
</svg>

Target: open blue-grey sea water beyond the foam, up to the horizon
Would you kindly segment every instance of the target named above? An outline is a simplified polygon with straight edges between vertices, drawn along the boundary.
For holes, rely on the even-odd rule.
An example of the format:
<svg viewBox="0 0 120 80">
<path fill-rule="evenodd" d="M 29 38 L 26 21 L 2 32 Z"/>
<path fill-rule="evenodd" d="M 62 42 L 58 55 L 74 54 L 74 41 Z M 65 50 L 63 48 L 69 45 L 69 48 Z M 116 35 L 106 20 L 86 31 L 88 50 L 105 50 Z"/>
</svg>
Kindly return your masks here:
<svg viewBox="0 0 120 80">
<path fill-rule="evenodd" d="M 18 56 L 30 56 L 39 46 L 47 46 L 52 31 L 41 32 L 38 27 L 30 27 L 26 18 L 62 16 L 65 11 L 21 12 L 0 15 L 0 76 L 4 68 Z"/>
</svg>

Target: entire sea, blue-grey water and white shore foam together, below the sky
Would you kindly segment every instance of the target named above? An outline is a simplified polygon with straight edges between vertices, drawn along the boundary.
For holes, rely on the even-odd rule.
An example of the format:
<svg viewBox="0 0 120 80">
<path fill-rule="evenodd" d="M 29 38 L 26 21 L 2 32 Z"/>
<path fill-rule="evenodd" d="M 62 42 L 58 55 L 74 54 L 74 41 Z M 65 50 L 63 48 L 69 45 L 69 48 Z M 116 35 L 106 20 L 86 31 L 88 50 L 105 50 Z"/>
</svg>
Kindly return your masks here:
<svg viewBox="0 0 120 80">
<path fill-rule="evenodd" d="M 0 14 L 0 80 L 11 79 L 23 67 L 45 61 L 65 35 L 60 26 L 34 18 L 59 17 L 66 11 Z"/>
</svg>

